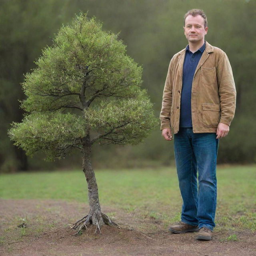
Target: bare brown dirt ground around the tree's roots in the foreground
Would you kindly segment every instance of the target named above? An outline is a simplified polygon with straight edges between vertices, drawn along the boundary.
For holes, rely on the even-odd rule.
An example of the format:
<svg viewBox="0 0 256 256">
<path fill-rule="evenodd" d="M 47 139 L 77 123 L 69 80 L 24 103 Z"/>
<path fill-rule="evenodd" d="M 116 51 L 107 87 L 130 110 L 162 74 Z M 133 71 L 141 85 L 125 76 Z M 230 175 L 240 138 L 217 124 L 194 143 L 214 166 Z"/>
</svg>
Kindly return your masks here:
<svg viewBox="0 0 256 256">
<path fill-rule="evenodd" d="M 214 232 L 210 241 L 194 240 L 195 233 L 171 234 L 159 220 L 138 219 L 118 209 L 111 213 L 121 229 L 95 227 L 72 236 L 71 223 L 86 215 L 88 205 L 61 200 L 0 200 L 0 255 L 25 256 L 256 256 L 256 233 Z M 24 221 L 22 220 L 24 219 Z M 17 224 L 26 222 L 26 228 Z M 99 233 L 99 232 L 98 232 Z"/>
</svg>

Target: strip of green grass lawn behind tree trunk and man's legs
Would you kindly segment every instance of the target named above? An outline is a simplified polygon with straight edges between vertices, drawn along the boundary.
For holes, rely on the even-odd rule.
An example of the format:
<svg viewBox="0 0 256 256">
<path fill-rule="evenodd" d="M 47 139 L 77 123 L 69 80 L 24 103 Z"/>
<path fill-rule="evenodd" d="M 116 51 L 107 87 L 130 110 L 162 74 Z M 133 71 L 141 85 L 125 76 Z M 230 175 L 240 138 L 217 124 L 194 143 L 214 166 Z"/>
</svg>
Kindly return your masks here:
<svg viewBox="0 0 256 256">
<path fill-rule="evenodd" d="M 216 228 L 256 230 L 256 166 L 218 167 Z M 175 168 L 96 170 L 100 202 L 137 217 L 159 218 L 166 226 L 180 218 Z M 82 170 L 2 174 L 1 198 L 52 198 L 87 202 Z"/>
</svg>

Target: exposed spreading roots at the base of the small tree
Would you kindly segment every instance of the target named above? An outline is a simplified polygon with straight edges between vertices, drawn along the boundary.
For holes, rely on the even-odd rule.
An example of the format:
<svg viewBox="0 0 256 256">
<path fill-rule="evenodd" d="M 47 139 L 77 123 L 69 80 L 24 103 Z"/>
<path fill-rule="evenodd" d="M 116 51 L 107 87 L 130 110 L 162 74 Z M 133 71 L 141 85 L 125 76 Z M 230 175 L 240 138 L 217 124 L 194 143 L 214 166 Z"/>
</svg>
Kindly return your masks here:
<svg viewBox="0 0 256 256">
<path fill-rule="evenodd" d="M 94 218 L 93 218 L 94 217 Z M 94 220 L 94 221 L 93 221 Z M 95 221 L 96 220 L 96 221 Z M 95 229 L 95 234 L 97 232 L 97 229 L 100 231 L 100 234 L 101 233 L 101 230 L 100 230 L 100 227 L 102 226 L 101 223 L 103 224 L 106 224 L 108 226 L 112 226 L 114 228 L 120 228 L 120 226 L 118 226 L 118 224 L 116 224 L 108 215 L 104 214 L 101 212 L 100 216 L 98 216 L 98 218 L 96 216 L 93 216 L 93 214 L 91 214 L 89 212 L 88 215 L 84 216 L 81 220 L 78 220 L 71 228 L 71 229 L 74 229 L 74 230 L 77 230 L 78 231 L 73 235 L 77 235 L 82 229 L 86 229 L 88 228 L 88 226 L 90 225 L 95 225 L 96 226 L 96 229 Z"/>
</svg>

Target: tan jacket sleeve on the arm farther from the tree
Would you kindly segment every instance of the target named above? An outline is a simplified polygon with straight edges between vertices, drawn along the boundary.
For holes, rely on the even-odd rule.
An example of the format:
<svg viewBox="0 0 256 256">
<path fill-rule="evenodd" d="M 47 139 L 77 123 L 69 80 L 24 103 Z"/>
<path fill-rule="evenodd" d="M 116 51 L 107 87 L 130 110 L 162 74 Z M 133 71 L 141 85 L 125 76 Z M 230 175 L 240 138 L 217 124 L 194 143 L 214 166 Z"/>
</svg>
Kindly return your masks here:
<svg viewBox="0 0 256 256">
<path fill-rule="evenodd" d="M 236 109 L 236 87 L 228 56 L 223 52 L 217 66 L 220 122 L 230 126 Z"/>
</svg>

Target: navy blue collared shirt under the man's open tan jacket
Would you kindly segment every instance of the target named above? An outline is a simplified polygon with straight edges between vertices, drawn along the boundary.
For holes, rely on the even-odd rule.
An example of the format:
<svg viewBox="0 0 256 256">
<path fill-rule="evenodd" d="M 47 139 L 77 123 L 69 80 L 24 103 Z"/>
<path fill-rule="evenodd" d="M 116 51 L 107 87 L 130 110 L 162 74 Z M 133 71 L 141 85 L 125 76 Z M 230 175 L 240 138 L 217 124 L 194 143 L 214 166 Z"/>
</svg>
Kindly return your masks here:
<svg viewBox="0 0 256 256">
<path fill-rule="evenodd" d="M 180 127 L 192 127 L 191 115 L 191 90 L 194 74 L 198 62 L 204 52 L 204 45 L 196 52 L 192 53 L 189 46 L 186 47 L 185 59 L 183 64 L 182 90 L 180 100 Z"/>
</svg>

